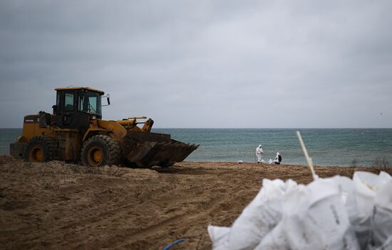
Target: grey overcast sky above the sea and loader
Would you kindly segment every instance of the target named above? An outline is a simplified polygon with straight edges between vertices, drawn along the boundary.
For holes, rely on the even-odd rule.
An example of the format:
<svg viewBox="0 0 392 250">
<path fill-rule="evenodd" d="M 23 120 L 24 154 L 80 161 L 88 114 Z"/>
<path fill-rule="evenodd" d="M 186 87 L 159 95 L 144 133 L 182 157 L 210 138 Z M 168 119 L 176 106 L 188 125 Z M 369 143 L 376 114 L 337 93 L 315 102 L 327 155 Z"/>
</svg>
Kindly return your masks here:
<svg viewBox="0 0 392 250">
<path fill-rule="evenodd" d="M 55 87 L 160 128 L 392 127 L 392 1 L 0 1 L 0 128 Z"/>
</svg>

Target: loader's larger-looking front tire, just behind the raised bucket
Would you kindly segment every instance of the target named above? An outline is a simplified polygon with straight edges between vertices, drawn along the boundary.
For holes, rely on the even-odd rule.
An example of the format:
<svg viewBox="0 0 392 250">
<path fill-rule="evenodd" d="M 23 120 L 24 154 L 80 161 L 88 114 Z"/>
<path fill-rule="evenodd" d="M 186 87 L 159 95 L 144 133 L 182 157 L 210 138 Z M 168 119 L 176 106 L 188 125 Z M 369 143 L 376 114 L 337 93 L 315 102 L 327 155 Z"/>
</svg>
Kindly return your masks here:
<svg viewBox="0 0 392 250">
<path fill-rule="evenodd" d="M 118 165 L 121 159 L 121 149 L 118 142 L 110 136 L 93 136 L 84 143 L 81 158 L 83 165 L 91 167 Z"/>
</svg>

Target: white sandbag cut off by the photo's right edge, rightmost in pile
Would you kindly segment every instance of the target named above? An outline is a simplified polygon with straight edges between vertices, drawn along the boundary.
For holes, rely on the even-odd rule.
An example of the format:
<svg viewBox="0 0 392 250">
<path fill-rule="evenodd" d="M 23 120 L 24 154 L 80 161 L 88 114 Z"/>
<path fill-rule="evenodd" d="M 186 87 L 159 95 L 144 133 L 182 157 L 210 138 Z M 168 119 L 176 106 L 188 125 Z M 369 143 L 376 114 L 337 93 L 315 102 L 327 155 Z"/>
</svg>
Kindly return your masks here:
<svg viewBox="0 0 392 250">
<path fill-rule="evenodd" d="M 381 248 L 392 237 L 392 180 L 376 193 L 370 229 L 368 249 Z"/>
</svg>

